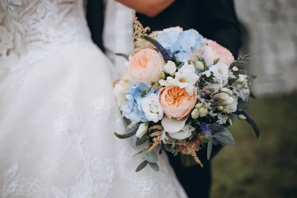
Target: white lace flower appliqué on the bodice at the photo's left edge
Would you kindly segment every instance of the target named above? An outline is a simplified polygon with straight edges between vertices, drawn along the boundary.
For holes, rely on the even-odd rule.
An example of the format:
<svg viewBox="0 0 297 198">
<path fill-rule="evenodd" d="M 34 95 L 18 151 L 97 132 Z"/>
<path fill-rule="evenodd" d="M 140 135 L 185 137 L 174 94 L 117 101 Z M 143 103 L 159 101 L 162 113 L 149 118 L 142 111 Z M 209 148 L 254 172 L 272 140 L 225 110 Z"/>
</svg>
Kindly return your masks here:
<svg viewBox="0 0 297 198">
<path fill-rule="evenodd" d="M 0 56 L 6 56 L 7 50 L 13 48 L 13 34 L 0 26 Z"/>
</svg>

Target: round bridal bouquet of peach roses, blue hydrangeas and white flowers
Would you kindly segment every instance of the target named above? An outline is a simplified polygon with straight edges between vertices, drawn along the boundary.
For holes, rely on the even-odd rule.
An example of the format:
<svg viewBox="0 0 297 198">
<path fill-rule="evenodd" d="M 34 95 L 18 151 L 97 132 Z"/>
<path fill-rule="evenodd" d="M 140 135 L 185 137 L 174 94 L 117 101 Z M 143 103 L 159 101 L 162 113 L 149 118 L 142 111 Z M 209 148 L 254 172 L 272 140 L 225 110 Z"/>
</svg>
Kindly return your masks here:
<svg viewBox="0 0 297 198">
<path fill-rule="evenodd" d="M 213 145 L 235 145 L 227 129 L 239 118 L 246 120 L 260 139 L 254 120 L 245 112 L 248 86 L 255 76 L 247 75 L 232 53 L 215 41 L 203 38 L 196 30 L 180 27 L 152 32 L 135 15 L 135 49 L 128 57 L 126 70 L 115 84 L 114 93 L 120 110 L 130 124 L 130 132 L 115 133 L 118 138 L 132 137 L 132 146 L 149 143 L 142 150 L 147 164 L 155 171 L 160 145 L 174 154 L 197 156 L 207 146 L 207 158 Z"/>
</svg>

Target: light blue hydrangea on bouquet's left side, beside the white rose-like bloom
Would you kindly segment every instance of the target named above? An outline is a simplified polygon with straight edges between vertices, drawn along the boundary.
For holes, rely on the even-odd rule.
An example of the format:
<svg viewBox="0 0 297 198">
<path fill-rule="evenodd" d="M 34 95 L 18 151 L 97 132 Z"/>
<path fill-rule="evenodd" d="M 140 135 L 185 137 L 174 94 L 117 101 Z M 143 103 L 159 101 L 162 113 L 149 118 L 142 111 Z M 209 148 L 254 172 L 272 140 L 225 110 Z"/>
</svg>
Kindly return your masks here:
<svg viewBox="0 0 297 198">
<path fill-rule="evenodd" d="M 154 93 L 154 90 L 151 89 L 147 94 L 145 94 L 144 97 L 141 97 L 141 91 L 148 88 L 149 86 L 145 83 L 130 85 L 129 89 L 126 92 L 126 99 L 128 101 L 121 107 L 126 118 L 130 119 L 133 122 L 148 122 L 148 119 L 146 118 L 140 103 L 143 98 L 151 93 Z"/>
</svg>

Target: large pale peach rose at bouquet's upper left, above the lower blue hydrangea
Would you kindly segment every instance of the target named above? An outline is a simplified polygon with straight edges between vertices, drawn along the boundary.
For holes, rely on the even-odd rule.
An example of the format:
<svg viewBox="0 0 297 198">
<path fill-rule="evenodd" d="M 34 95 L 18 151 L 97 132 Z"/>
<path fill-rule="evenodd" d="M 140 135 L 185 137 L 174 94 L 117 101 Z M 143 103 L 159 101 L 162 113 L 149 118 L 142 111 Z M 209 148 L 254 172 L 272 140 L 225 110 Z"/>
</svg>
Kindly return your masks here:
<svg viewBox="0 0 297 198">
<path fill-rule="evenodd" d="M 153 49 L 142 49 L 136 53 L 127 67 L 127 79 L 131 83 L 158 82 L 159 72 L 164 70 L 164 58 Z"/>
</svg>

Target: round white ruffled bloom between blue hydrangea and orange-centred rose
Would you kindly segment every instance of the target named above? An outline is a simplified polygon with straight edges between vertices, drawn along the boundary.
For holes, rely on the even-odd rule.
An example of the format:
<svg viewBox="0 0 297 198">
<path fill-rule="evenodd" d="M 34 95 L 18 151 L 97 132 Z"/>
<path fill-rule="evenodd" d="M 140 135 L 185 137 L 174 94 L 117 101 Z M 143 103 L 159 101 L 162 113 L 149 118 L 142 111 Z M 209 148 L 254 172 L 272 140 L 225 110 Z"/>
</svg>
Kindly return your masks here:
<svg viewBox="0 0 297 198">
<path fill-rule="evenodd" d="M 140 103 L 148 121 L 156 123 L 163 118 L 163 107 L 155 94 L 148 95 Z"/>
</svg>

